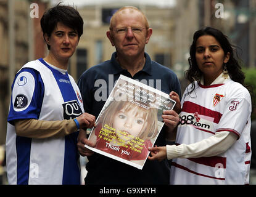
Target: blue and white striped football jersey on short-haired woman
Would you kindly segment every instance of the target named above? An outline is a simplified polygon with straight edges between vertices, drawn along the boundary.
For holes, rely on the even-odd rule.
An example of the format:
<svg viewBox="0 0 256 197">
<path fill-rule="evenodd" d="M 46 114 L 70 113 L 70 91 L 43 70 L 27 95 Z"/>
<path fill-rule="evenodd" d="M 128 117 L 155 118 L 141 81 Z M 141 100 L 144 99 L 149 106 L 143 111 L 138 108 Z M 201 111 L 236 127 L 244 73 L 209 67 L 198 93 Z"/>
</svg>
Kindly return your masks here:
<svg viewBox="0 0 256 197">
<path fill-rule="evenodd" d="M 9 184 L 80 184 L 78 132 L 30 139 L 17 136 L 13 123 L 16 119 L 76 118 L 84 112 L 80 95 L 72 76 L 42 58 L 28 62 L 15 75 L 6 137 Z"/>
</svg>

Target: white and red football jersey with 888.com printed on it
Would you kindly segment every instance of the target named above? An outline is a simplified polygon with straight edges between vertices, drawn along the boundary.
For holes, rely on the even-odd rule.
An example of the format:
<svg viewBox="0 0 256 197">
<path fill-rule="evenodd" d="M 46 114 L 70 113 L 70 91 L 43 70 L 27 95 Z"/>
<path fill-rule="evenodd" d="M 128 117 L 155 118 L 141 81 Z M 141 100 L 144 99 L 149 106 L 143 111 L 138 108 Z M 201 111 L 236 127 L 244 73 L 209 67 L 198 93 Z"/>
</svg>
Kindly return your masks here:
<svg viewBox="0 0 256 197">
<path fill-rule="evenodd" d="M 196 82 L 191 94 L 187 87 L 176 143 L 191 144 L 217 132 L 229 131 L 237 141 L 220 155 L 172 160 L 171 184 L 248 184 L 250 170 L 250 113 L 248 90 L 226 79 L 221 84 L 203 86 Z"/>
</svg>

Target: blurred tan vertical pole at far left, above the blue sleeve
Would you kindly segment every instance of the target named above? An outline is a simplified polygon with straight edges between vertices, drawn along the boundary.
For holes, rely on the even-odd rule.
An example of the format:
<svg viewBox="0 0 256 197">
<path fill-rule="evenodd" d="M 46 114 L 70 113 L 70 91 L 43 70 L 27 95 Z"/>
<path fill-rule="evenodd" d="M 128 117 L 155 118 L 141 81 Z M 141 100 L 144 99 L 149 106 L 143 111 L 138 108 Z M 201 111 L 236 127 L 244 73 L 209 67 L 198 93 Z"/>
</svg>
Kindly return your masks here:
<svg viewBox="0 0 256 197">
<path fill-rule="evenodd" d="M 14 34 L 14 0 L 8 1 L 8 38 L 9 38 L 9 90 L 15 72 L 15 34 Z M 10 95 L 10 92 L 9 92 Z"/>
</svg>

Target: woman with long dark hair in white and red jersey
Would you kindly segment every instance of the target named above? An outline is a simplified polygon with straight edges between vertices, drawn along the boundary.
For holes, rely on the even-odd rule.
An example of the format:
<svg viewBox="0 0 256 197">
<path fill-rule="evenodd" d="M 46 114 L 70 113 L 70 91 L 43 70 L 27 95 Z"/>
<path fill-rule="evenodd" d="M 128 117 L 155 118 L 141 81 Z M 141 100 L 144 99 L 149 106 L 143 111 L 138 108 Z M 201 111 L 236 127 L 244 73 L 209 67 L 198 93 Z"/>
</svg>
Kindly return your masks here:
<svg viewBox="0 0 256 197">
<path fill-rule="evenodd" d="M 212 27 L 194 33 L 176 145 L 151 149 L 173 159 L 171 184 L 247 184 L 252 104 L 228 38 Z"/>
</svg>

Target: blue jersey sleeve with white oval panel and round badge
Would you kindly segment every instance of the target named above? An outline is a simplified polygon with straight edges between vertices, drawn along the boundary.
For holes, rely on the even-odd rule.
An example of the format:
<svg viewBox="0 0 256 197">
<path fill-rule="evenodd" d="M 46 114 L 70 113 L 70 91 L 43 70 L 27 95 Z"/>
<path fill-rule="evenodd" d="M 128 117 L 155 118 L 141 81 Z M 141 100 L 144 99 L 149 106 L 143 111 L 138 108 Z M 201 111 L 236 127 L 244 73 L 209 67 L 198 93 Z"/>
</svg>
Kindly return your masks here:
<svg viewBox="0 0 256 197">
<path fill-rule="evenodd" d="M 38 119 L 44 98 L 44 84 L 41 75 L 33 68 L 22 68 L 15 75 L 10 97 L 7 121 L 15 119 Z"/>
</svg>

